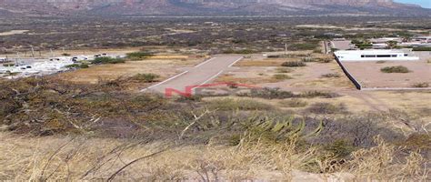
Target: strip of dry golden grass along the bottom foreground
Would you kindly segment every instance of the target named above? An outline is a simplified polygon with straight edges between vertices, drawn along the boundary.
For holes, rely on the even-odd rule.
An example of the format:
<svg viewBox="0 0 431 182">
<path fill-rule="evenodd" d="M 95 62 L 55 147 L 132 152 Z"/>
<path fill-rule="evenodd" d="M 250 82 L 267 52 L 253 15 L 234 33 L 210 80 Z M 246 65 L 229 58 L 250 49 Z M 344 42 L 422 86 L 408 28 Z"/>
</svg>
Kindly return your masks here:
<svg viewBox="0 0 431 182">
<path fill-rule="evenodd" d="M 0 133 L 0 180 L 359 180 L 429 179 L 417 153 L 394 160 L 398 148 L 377 146 L 355 152 L 343 166 L 331 166 L 318 148 L 286 143 L 241 140 L 236 147 L 180 146 L 125 139 L 26 137 Z M 310 168 L 310 164 L 320 164 Z M 326 171 L 326 174 L 299 172 Z M 344 175 L 329 174 L 342 171 Z M 338 178 L 339 180 L 339 178 Z"/>
</svg>

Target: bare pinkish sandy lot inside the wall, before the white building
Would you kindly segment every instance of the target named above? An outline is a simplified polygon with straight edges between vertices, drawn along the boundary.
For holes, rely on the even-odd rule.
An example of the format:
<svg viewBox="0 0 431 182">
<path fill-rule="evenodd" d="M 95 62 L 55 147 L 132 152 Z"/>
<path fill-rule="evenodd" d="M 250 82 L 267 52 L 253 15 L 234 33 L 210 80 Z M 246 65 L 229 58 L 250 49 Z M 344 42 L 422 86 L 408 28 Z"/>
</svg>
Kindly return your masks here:
<svg viewBox="0 0 431 182">
<path fill-rule="evenodd" d="M 397 61 L 378 64 L 376 62 L 345 62 L 347 70 L 366 88 L 374 87 L 412 87 L 417 83 L 431 84 L 431 64 L 426 61 Z M 406 66 L 412 72 L 383 73 L 386 66 Z"/>
</svg>

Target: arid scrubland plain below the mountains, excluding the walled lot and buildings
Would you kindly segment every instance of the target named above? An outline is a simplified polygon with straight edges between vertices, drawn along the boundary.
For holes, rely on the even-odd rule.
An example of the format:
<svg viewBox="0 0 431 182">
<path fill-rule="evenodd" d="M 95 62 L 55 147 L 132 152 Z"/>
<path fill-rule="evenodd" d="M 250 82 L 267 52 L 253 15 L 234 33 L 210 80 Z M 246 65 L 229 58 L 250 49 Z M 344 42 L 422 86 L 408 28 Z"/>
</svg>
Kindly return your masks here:
<svg viewBox="0 0 431 182">
<path fill-rule="evenodd" d="M 0 79 L 0 181 L 431 180 L 430 52 L 358 90 L 325 46 L 427 17 L 75 18 L 0 21 L 0 57 L 115 55 Z"/>
</svg>

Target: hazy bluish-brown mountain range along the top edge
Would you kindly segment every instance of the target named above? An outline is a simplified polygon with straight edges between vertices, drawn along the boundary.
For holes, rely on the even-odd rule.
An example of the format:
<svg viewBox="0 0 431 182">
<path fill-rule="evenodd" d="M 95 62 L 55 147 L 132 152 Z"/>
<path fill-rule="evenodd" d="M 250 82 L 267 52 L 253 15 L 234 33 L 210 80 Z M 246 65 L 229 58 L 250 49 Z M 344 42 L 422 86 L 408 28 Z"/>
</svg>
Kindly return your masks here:
<svg viewBox="0 0 431 182">
<path fill-rule="evenodd" d="M 392 0 L 0 0 L 0 15 L 431 15 Z"/>
</svg>

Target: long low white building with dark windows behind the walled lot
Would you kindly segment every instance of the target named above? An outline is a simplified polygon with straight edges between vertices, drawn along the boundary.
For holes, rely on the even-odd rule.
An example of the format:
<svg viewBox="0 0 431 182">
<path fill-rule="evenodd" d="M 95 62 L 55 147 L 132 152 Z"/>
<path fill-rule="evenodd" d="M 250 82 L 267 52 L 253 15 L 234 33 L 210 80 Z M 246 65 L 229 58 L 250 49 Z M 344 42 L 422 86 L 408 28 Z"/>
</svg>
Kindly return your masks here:
<svg viewBox="0 0 431 182">
<path fill-rule="evenodd" d="M 419 57 L 402 50 L 348 50 L 336 51 L 340 61 L 415 61 Z"/>
</svg>

